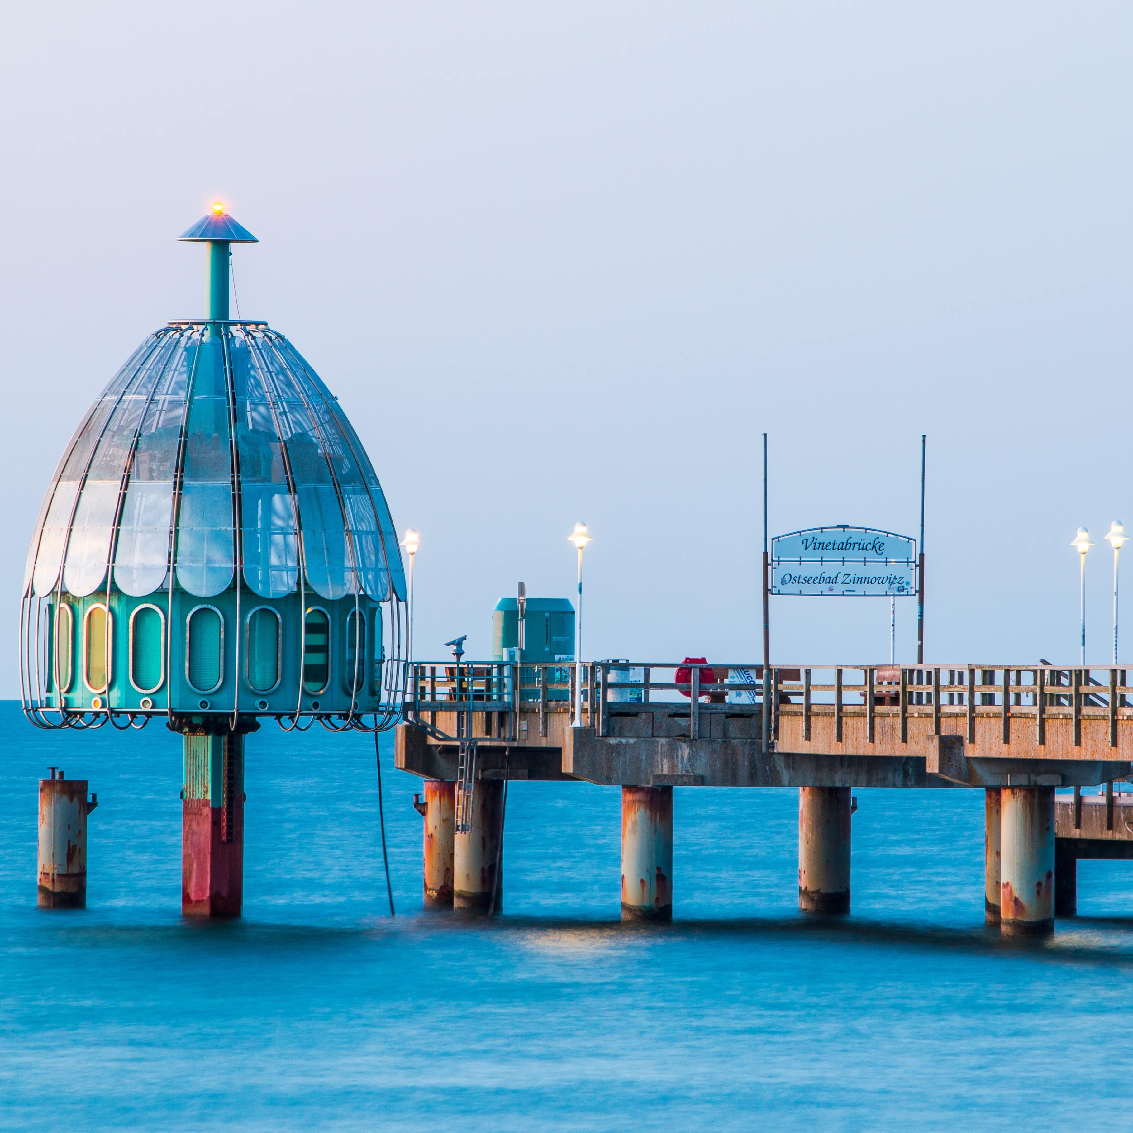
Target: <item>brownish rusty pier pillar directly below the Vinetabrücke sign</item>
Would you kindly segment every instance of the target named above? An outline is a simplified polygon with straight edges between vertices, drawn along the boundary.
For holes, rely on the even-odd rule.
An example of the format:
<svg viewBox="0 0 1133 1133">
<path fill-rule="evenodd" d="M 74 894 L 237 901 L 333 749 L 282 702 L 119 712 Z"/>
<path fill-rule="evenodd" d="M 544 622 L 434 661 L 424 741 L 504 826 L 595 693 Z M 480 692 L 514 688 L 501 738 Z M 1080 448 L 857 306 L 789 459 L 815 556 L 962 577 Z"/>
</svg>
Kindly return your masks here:
<svg viewBox="0 0 1133 1133">
<path fill-rule="evenodd" d="M 799 787 L 799 909 L 850 912 L 850 787 Z"/>
</svg>

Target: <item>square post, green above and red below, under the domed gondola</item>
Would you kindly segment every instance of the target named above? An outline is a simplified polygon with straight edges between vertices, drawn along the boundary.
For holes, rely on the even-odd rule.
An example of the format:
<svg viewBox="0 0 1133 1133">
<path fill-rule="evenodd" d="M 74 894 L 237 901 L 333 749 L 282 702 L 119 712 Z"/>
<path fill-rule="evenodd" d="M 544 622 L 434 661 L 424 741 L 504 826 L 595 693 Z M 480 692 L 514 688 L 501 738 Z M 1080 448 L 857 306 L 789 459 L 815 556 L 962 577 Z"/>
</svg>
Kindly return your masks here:
<svg viewBox="0 0 1133 1133">
<path fill-rule="evenodd" d="M 244 904 L 244 735 L 185 736 L 181 914 L 239 917 Z"/>
</svg>

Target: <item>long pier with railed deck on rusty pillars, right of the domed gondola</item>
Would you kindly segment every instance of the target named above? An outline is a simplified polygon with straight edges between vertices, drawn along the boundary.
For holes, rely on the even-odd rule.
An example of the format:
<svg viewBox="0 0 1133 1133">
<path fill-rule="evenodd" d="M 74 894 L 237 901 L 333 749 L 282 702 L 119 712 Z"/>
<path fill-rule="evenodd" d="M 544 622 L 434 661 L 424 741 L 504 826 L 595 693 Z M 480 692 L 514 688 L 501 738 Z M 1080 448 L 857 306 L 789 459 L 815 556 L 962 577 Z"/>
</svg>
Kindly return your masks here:
<svg viewBox="0 0 1133 1133">
<path fill-rule="evenodd" d="M 433 833 L 441 808 L 459 819 L 467 796 L 491 819 L 465 833 L 458 820 L 455 849 L 443 851 L 458 891 L 476 889 L 453 903 L 487 904 L 487 867 L 469 879 L 460 864 L 461 838 L 475 834 L 500 908 L 492 840 L 502 842 L 506 781 L 621 787 L 623 919 L 672 915 L 674 787 L 798 789 L 799 908 L 827 914 L 851 906 L 852 789 L 968 787 L 986 792 L 987 919 L 1006 935 L 1041 935 L 1056 911 L 1074 911 L 1079 859 L 1133 857 L 1133 801 L 1115 803 L 1111 789 L 1133 770 L 1131 696 L 1122 668 L 1033 664 L 784 665 L 765 680 L 751 663 L 415 662 L 395 761 L 445 785 L 419 806 L 427 903 L 440 892 L 431 879 L 450 869 L 436 857 L 448 845 Z M 1107 806 L 1082 798 L 1102 784 Z M 1056 804 L 1057 787 L 1074 799 Z"/>
</svg>

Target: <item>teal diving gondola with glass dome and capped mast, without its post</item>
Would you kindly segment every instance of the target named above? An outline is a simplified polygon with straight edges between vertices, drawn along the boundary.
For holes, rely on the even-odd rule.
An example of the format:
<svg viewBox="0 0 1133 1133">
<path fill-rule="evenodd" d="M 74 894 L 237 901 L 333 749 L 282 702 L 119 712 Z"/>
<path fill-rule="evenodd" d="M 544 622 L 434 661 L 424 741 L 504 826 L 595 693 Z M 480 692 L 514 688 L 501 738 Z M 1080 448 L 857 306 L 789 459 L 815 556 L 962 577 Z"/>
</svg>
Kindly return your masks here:
<svg viewBox="0 0 1133 1133">
<path fill-rule="evenodd" d="M 24 579 L 25 712 L 390 726 L 406 578 L 369 457 L 282 334 L 228 318 L 229 245 L 255 238 L 218 213 L 181 239 L 208 245 L 212 317 L 150 335 L 59 462 Z"/>
</svg>

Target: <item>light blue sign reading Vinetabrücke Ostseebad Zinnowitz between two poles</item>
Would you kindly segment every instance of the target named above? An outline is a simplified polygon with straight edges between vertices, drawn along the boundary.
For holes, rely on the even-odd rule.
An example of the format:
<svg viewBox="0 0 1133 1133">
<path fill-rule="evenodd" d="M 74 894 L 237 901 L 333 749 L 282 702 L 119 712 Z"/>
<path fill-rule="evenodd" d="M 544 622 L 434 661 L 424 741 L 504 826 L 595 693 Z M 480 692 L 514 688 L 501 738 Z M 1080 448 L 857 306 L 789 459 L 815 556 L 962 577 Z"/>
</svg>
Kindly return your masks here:
<svg viewBox="0 0 1133 1133">
<path fill-rule="evenodd" d="M 772 594 L 917 593 L 917 540 L 871 527 L 811 527 L 772 540 Z"/>
</svg>

